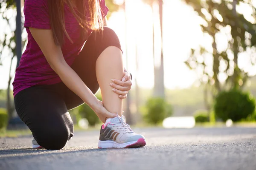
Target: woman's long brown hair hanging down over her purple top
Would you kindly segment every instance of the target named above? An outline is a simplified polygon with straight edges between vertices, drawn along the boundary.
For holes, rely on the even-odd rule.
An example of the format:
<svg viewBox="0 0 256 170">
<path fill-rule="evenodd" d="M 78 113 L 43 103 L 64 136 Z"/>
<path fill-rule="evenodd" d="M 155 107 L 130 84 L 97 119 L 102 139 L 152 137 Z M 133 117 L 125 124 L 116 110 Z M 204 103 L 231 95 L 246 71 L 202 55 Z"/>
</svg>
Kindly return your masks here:
<svg viewBox="0 0 256 170">
<path fill-rule="evenodd" d="M 101 15 L 100 0 L 76 0 L 77 10 L 75 11 L 75 4 L 73 0 L 48 0 L 48 9 L 50 24 L 53 32 L 53 37 L 56 45 L 63 45 L 64 35 L 73 43 L 70 36 L 67 34 L 64 20 L 64 4 L 66 3 L 79 25 L 84 28 L 82 36 L 87 34 L 87 29 L 97 30 L 103 26 L 103 19 Z M 88 3 L 86 3 L 88 1 Z M 89 16 L 86 16 L 89 14 Z"/>
</svg>

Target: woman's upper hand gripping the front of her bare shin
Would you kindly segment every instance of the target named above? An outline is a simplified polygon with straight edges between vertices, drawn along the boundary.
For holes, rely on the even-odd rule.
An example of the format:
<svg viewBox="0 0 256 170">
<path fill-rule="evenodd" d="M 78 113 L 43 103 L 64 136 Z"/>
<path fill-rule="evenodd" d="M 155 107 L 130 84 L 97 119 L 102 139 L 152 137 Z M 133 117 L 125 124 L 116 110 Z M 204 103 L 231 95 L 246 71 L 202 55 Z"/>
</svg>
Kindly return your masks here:
<svg viewBox="0 0 256 170">
<path fill-rule="evenodd" d="M 112 79 L 112 83 L 109 85 L 113 88 L 112 91 L 114 93 L 119 94 L 120 99 L 125 99 L 132 85 L 130 73 L 124 72 L 122 81 L 118 79 Z"/>
</svg>

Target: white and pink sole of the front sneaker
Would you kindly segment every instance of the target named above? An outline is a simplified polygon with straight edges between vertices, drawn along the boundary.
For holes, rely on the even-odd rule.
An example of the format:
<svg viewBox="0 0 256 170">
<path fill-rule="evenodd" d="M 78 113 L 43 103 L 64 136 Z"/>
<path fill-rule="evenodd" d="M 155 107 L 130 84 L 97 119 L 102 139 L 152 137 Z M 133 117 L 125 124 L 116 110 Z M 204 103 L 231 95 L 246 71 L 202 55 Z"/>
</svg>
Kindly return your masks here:
<svg viewBox="0 0 256 170">
<path fill-rule="evenodd" d="M 100 141 L 98 143 L 98 148 L 133 148 L 133 147 L 143 147 L 146 145 L 146 142 L 143 138 L 138 139 L 137 141 L 127 142 L 123 144 L 116 143 L 114 141 Z"/>
</svg>

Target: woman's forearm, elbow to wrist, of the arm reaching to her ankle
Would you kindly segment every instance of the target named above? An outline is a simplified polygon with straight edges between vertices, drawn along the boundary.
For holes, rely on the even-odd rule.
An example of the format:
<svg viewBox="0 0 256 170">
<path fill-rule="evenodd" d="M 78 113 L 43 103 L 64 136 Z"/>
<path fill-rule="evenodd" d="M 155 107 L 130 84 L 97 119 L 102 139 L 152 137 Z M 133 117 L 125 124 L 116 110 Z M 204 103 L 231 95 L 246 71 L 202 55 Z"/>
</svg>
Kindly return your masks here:
<svg viewBox="0 0 256 170">
<path fill-rule="evenodd" d="M 93 108 L 98 103 L 98 99 L 84 84 L 76 72 L 64 61 L 53 67 L 54 71 L 61 78 L 62 82 L 76 95 L 78 95 L 87 105 Z"/>
</svg>

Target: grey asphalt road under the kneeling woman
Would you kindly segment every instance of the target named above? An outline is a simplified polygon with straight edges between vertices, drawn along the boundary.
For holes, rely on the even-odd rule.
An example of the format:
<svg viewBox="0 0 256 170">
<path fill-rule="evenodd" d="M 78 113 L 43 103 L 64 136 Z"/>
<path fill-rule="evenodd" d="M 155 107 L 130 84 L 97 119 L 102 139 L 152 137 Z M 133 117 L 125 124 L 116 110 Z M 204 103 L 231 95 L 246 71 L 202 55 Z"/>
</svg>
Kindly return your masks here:
<svg viewBox="0 0 256 170">
<path fill-rule="evenodd" d="M 98 149 L 98 131 L 62 150 L 31 149 L 31 136 L 0 138 L 0 170 L 256 170 L 256 128 L 134 129 L 147 145 Z"/>
</svg>

